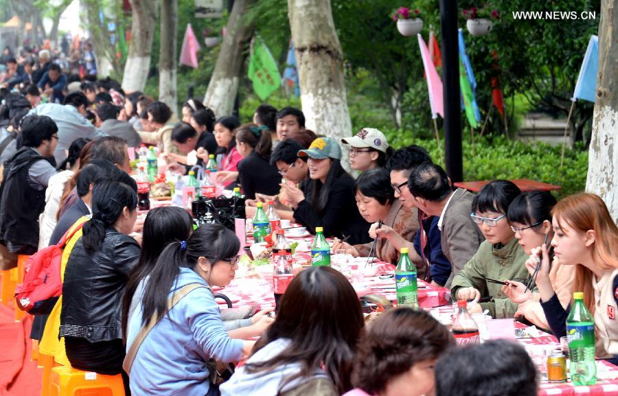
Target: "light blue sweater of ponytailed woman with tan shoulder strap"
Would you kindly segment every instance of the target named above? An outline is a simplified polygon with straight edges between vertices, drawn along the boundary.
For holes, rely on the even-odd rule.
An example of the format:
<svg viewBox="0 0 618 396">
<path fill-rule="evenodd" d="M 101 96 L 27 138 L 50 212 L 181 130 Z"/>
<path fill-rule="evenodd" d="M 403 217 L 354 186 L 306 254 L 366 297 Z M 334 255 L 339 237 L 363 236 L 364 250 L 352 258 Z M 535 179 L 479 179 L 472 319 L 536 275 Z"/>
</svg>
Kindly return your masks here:
<svg viewBox="0 0 618 396">
<path fill-rule="evenodd" d="M 188 283 L 206 281 L 190 268 L 181 268 L 170 296 Z M 141 329 L 142 295 L 128 323 L 126 350 Z M 141 344 L 130 372 L 133 395 L 204 396 L 209 389 L 206 362 L 240 360 L 242 340 L 227 335 L 212 292 L 193 290 L 172 308 Z"/>
</svg>

